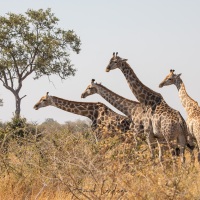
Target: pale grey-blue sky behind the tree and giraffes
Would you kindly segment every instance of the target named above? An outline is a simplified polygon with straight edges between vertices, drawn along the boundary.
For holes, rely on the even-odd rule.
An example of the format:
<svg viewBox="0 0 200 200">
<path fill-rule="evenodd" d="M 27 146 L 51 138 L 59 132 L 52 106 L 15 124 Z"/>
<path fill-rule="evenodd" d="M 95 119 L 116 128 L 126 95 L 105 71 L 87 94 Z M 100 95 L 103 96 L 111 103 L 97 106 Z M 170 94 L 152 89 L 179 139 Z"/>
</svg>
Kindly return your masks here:
<svg viewBox="0 0 200 200">
<path fill-rule="evenodd" d="M 96 79 L 125 98 L 136 100 L 120 70 L 105 72 L 113 52 L 127 58 L 138 78 L 163 95 L 166 102 L 186 117 L 175 86 L 159 88 L 159 83 L 175 69 L 182 73 L 188 94 L 200 102 L 200 1 L 199 0 L 0 0 L 0 15 L 24 14 L 28 9 L 47 9 L 59 18 L 59 27 L 73 29 L 80 36 L 80 54 L 71 55 L 77 68 L 74 77 L 61 81 L 28 77 L 22 87 L 21 115 L 29 122 L 53 118 L 59 123 L 86 119 L 54 107 L 34 110 L 41 96 L 50 95 L 73 101 L 103 102 L 95 94 L 81 99 L 81 93 Z M 0 82 L 0 120 L 9 121 L 15 111 L 13 94 Z"/>
</svg>

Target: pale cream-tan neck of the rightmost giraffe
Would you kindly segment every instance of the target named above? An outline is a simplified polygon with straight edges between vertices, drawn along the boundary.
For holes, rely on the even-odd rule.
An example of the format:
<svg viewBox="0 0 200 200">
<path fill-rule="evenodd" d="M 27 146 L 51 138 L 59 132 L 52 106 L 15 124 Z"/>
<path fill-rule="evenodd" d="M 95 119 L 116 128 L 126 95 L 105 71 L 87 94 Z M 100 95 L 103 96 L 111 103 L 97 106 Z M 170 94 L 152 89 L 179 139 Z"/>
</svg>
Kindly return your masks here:
<svg viewBox="0 0 200 200">
<path fill-rule="evenodd" d="M 181 103 L 182 103 L 187 115 L 190 116 L 193 113 L 193 111 L 198 109 L 198 103 L 187 94 L 185 85 L 181 78 L 179 78 L 175 82 L 175 85 L 178 89 Z"/>
</svg>

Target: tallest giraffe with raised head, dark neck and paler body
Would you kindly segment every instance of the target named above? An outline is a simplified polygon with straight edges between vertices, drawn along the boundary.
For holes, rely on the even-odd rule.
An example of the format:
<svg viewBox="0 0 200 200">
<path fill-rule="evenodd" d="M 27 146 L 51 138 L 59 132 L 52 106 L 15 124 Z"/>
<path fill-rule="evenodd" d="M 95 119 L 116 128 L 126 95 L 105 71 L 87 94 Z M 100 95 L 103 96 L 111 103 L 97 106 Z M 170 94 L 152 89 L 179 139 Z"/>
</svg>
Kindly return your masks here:
<svg viewBox="0 0 200 200">
<path fill-rule="evenodd" d="M 156 138 L 159 147 L 159 160 L 162 161 L 163 144 L 172 151 L 178 144 L 181 162 L 185 162 L 185 146 L 187 144 L 187 127 L 180 112 L 171 108 L 157 93 L 145 86 L 136 76 L 133 69 L 118 53 L 113 53 L 106 72 L 119 68 L 124 74 L 128 85 L 137 100 L 146 108 L 144 132 L 148 137 L 149 146 L 152 138 Z"/>
</svg>

